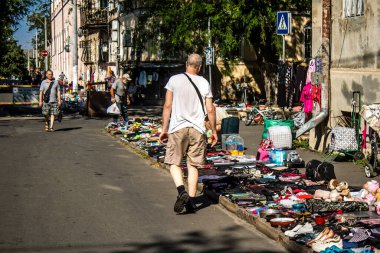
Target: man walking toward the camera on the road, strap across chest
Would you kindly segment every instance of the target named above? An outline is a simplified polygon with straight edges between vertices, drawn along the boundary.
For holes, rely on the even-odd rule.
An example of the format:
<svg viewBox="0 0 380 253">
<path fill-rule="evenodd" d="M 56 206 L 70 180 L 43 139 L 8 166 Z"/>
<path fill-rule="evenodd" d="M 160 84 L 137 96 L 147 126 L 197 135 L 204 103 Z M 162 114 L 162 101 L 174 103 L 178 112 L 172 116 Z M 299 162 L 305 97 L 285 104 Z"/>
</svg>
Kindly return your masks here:
<svg viewBox="0 0 380 253">
<path fill-rule="evenodd" d="M 45 117 L 45 131 L 53 132 L 54 120 L 59 114 L 59 106 L 61 105 L 61 92 L 51 70 L 46 71 L 46 79 L 41 83 L 39 105 Z"/>
</svg>

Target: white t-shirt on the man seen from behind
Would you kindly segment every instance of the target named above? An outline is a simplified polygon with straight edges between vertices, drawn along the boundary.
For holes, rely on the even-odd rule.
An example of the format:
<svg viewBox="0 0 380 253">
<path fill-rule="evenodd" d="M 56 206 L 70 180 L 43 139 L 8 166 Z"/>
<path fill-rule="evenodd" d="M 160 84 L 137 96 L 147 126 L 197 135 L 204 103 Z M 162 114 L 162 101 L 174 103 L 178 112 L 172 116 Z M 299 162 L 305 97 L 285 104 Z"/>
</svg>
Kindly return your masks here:
<svg viewBox="0 0 380 253">
<path fill-rule="evenodd" d="M 205 113 L 207 113 L 205 100 L 212 98 L 211 87 L 202 76 L 186 73 L 197 86 L 202 96 Z M 197 92 L 189 79 L 183 74 L 172 76 L 165 89 L 173 92 L 172 112 L 170 116 L 169 133 L 185 127 L 193 127 L 200 133 L 205 133 L 205 114 Z"/>
</svg>

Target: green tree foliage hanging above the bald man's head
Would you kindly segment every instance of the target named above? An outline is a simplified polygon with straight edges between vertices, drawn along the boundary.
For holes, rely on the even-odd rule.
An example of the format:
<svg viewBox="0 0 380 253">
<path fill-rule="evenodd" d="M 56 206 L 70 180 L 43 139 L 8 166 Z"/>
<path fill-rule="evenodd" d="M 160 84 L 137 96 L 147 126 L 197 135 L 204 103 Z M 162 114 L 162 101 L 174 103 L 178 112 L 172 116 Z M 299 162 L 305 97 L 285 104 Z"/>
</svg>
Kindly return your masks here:
<svg viewBox="0 0 380 253">
<path fill-rule="evenodd" d="M 242 40 L 255 47 L 259 60 L 277 60 L 281 38 L 275 34 L 276 12 L 311 9 L 311 0 L 147 0 L 145 4 L 148 11 L 139 20 L 140 37 L 160 44 L 164 55 L 202 53 L 208 45 L 210 18 L 216 54 L 230 60 L 237 56 Z"/>
</svg>

